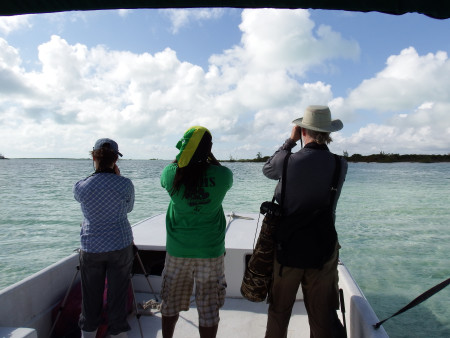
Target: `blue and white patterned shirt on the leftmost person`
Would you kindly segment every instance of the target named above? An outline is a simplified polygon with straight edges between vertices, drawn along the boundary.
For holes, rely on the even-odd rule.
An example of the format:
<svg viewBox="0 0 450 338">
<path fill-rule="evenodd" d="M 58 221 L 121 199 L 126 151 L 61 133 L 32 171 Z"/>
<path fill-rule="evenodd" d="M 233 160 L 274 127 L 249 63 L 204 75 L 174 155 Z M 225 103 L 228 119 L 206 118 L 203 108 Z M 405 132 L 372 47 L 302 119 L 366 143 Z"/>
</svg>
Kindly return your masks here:
<svg viewBox="0 0 450 338">
<path fill-rule="evenodd" d="M 75 199 L 81 203 L 81 250 L 109 252 L 133 242 L 127 213 L 133 210 L 134 186 L 130 179 L 112 173 L 96 173 L 75 183 Z"/>
</svg>

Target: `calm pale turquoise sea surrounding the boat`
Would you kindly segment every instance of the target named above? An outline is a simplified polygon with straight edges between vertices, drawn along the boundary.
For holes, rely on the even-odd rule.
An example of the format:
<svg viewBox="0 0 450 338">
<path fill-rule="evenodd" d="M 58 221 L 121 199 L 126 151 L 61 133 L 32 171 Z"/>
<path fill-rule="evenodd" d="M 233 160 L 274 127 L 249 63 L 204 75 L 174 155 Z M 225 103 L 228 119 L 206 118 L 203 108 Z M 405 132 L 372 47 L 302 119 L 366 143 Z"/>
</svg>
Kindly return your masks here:
<svg viewBox="0 0 450 338">
<path fill-rule="evenodd" d="M 122 160 L 133 180 L 135 223 L 164 213 L 159 175 L 168 161 Z M 226 163 L 226 211 L 258 212 L 275 181 L 261 163 Z M 72 185 L 89 160 L 0 160 L 0 289 L 78 248 L 81 211 Z M 337 209 L 341 258 L 380 319 L 450 277 L 450 163 L 350 163 Z M 1 306 L 1 305 L 0 305 Z M 391 337 L 450 337 L 450 287 L 385 324 Z"/>
</svg>

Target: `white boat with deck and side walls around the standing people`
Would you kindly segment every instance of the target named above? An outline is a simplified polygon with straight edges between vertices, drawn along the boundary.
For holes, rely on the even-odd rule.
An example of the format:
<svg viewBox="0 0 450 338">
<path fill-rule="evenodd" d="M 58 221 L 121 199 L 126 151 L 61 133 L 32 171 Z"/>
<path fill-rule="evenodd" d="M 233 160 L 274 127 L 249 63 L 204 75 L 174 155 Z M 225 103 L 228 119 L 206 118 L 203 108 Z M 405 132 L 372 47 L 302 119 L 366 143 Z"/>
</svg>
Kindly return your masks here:
<svg viewBox="0 0 450 338">
<path fill-rule="evenodd" d="M 242 277 L 247 261 L 252 254 L 254 240 L 258 236 L 263 216 L 260 216 L 258 231 L 256 231 L 258 214 L 239 213 L 239 216 L 234 215 L 233 217 L 230 217 L 229 214 L 226 215 L 228 225 L 225 239 L 225 276 L 228 287 L 225 305 L 220 311 L 221 320 L 217 336 L 226 338 L 264 337 L 268 305 L 265 302 L 250 302 L 242 298 L 240 293 Z M 157 215 L 137 223 L 133 226 L 133 233 L 135 244 L 139 248 L 139 257 L 147 273 L 145 276 L 142 269 L 139 271 L 138 260 L 135 260 L 133 269 L 135 275 L 132 282 L 137 303 L 139 305 L 151 299 L 159 301 L 161 273 L 165 257 L 165 215 Z M 77 265 L 78 255 L 73 254 L 23 281 L 1 290 L 0 338 L 49 337 L 54 324 L 55 309 L 59 308 L 58 304 L 70 288 Z M 344 291 L 348 337 L 388 337 L 383 327 L 379 330 L 373 328 L 373 324 L 378 322 L 378 318 L 350 272 L 342 264 L 338 266 L 338 269 L 339 286 Z M 129 324 L 132 327 L 128 333 L 130 338 L 162 337 L 161 314 L 157 309 L 151 311 L 151 315 L 140 314 L 139 321 L 135 315 L 130 315 Z M 338 315 L 342 319 L 340 312 Z M 72 322 L 76 323 L 77 318 L 78 313 L 71 315 Z M 175 338 L 199 337 L 195 302 L 191 302 L 189 311 L 180 313 L 174 336 Z M 308 318 L 301 291 L 297 294 L 288 337 L 309 337 Z"/>
</svg>

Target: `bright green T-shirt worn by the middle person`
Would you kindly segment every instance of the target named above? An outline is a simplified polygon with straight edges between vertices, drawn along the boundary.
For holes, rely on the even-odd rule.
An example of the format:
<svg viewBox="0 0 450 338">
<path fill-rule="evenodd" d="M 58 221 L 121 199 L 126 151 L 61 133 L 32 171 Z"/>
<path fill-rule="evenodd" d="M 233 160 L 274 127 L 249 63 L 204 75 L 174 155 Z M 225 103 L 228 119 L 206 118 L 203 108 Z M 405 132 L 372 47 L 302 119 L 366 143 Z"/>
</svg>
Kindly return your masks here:
<svg viewBox="0 0 450 338">
<path fill-rule="evenodd" d="M 177 164 L 172 163 L 161 175 L 161 184 L 168 191 L 176 170 Z M 230 169 L 209 164 L 194 196 L 185 198 L 184 187 L 171 196 L 166 217 L 168 253 L 191 258 L 218 257 L 224 253 L 226 220 L 222 202 L 232 182 Z"/>
</svg>

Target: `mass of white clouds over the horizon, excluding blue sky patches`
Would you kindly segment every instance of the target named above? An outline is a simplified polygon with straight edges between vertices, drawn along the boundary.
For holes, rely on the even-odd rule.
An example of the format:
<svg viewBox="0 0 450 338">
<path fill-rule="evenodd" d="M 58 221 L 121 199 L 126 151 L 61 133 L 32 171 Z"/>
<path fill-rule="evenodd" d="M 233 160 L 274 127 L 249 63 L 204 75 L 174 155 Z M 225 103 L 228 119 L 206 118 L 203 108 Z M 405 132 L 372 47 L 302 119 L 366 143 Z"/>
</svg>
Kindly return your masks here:
<svg viewBox="0 0 450 338">
<path fill-rule="evenodd" d="M 174 30 L 223 14 L 173 13 Z M 447 51 L 403 48 L 336 97 L 333 83 L 308 74 L 357 62 L 357 40 L 316 25 L 306 10 L 244 10 L 239 28 L 241 40 L 210 55 L 207 69 L 170 47 L 112 50 L 54 34 L 38 46 L 38 67 L 27 70 L 22 51 L 0 38 L 0 152 L 87 157 L 96 139 L 111 137 L 126 158 L 172 159 L 183 132 L 204 125 L 220 159 L 270 155 L 307 105 L 328 104 L 344 122 L 330 146 L 336 153 L 450 153 Z"/>
</svg>

